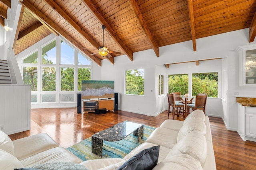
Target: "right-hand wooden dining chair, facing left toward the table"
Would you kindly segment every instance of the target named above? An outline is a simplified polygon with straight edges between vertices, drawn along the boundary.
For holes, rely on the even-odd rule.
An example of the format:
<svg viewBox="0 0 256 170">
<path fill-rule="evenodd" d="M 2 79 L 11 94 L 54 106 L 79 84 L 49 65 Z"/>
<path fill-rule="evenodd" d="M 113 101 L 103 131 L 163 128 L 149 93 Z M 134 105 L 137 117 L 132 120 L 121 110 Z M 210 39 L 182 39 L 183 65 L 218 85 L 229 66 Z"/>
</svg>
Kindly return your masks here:
<svg viewBox="0 0 256 170">
<path fill-rule="evenodd" d="M 207 100 L 207 95 L 204 95 L 204 96 L 196 95 L 195 104 L 187 104 L 186 115 L 190 113 L 190 109 L 192 109 L 192 111 L 196 109 L 200 109 L 200 110 L 203 110 L 205 114 L 206 100 Z"/>
</svg>

